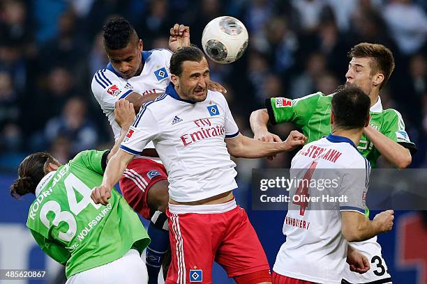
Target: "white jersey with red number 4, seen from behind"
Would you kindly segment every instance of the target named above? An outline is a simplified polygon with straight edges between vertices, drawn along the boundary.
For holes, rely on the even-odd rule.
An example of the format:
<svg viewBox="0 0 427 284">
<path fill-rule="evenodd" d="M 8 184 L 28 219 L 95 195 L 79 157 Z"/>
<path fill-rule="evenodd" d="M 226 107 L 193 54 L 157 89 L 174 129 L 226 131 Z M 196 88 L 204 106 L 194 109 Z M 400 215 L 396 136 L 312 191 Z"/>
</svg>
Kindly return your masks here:
<svg viewBox="0 0 427 284">
<path fill-rule="evenodd" d="M 369 173 L 368 161 L 342 136 L 330 134 L 295 155 L 290 178 L 299 182 L 290 187 L 283 223 L 286 242 L 276 257 L 276 273 L 315 283 L 341 283 L 347 241 L 341 234 L 340 211 L 364 214 Z"/>
</svg>

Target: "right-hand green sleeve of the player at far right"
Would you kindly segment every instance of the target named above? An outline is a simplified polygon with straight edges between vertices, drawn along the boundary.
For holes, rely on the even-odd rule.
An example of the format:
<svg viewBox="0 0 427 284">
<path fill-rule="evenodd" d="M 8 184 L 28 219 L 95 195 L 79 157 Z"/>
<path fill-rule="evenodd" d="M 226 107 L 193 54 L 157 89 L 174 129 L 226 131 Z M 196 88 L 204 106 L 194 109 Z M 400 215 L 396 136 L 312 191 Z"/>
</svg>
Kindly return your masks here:
<svg viewBox="0 0 427 284">
<path fill-rule="evenodd" d="M 384 111 L 384 122 L 381 128 L 382 134 L 409 149 L 412 155 L 417 152 L 417 146 L 410 141 L 410 137 L 405 131 L 405 123 L 398 111 L 395 109 Z"/>
</svg>

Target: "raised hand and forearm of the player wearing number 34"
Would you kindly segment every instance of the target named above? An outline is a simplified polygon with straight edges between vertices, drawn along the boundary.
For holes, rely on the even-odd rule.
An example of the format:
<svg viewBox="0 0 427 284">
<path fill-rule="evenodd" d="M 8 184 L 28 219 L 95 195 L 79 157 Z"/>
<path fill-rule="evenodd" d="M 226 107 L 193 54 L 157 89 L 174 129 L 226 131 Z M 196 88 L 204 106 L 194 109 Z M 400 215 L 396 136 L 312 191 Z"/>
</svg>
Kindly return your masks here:
<svg viewBox="0 0 427 284">
<path fill-rule="evenodd" d="M 117 153 L 119 146 L 124 139 L 124 136 L 128 133 L 130 125 L 132 125 L 133 120 L 135 120 L 135 111 L 133 109 L 133 104 L 128 102 L 126 99 L 121 99 L 115 102 L 114 104 L 114 118 L 117 124 L 121 127 L 119 139 L 114 143 L 113 148 L 110 151 L 110 154 L 107 156 L 107 161 L 110 161 L 110 158 Z"/>
</svg>

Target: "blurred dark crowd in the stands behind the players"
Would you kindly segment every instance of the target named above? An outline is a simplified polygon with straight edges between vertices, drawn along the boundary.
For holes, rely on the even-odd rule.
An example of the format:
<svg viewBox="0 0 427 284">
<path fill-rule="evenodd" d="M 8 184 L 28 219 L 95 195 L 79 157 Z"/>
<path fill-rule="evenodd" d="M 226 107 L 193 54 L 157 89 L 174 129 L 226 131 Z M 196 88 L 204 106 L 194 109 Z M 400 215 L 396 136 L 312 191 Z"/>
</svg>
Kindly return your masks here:
<svg viewBox="0 0 427 284">
<path fill-rule="evenodd" d="M 211 19 L 241 19 L 250 38 L 246 54 L 210 68 L 248 136 L 250 113 L 266 98 L 333 93 L 345 83 L 353 45 L 386 45 L 396 69 L 380 93 L 383 107 L 402 113 L 419 148 L 412 167 L 427 167 L 426 0 L 1 0 L 1 171 L 15 172 L 29 152 L 47 150 L 64 162 L 81 150 L 110 147 L 112 132 L 91 79 L 108 63 L 100 30 L 113 15 L 135 26 L 145 50 L 167 48 L 175 23 L 190 26 L 191 42 L 200 47 Z M 285 139 L 291 129 L 273 131 Z M 290 157 L 239 168 L 283 168 Z"/>
</svg>

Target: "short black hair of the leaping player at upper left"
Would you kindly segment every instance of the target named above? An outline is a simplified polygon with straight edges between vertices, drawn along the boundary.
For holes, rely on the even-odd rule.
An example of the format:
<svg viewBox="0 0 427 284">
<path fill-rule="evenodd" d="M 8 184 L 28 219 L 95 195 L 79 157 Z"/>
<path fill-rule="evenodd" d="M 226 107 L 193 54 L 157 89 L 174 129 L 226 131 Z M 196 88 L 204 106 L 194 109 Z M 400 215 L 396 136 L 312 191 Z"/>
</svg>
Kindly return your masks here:
<svg viewBox="0 0 427 284">
<path fill-rule="evenodd" d="M 105 49 L 125 48 L 133 38 L 138 39 L 135 28 L 123 17 L 113 17 L 103 26 Z"/>
</svg>

